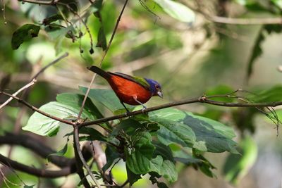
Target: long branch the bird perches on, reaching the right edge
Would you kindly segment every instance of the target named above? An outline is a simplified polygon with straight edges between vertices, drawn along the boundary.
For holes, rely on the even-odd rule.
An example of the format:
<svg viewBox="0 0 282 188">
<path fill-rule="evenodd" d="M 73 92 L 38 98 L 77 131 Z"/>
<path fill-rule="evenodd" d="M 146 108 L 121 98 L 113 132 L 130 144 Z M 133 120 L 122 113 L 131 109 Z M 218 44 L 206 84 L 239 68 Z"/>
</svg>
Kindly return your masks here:
<svg viewBox="0 0 282 188">
<path fill-rule="evenodd" d="M 270 102 L 270 103 L 226 103 L 226 102 L 221 102 L 221 101 L 213 101 L 207 98 L 210 98 L 212 96 L 201 96 L 200 98 L 197 99 L 188 99 L 188 100 L 183 100 L 183 101 L 177 101 L 177 102 L 172 102 L 172 103 L 168 103 L 168 104 L 162 104 L 159 106 L 154 106 L 151 108 L 147 108 L 144 111 L 140 110 L 140 111 L 133 111 L 130 113 L 124 113 L 121 115 L 114 115 L 108 118 L 101 118 L 101 119 L 97 119 L 97 120 L 92 120 L 92 121 L 88 121 L 88 122 L 84 122 L 81 123 L 79 126 L 80 127 L 84 127 L 84 126 L 88 126 L 88 125 L 97 125 L 97 124 L 101 124 L 101 123 L 105 123 L 108 122 L 110 120 L 117 120 L 117 119 L 121 119 L 121 118 L 125 118 L 128 116 L 133 116 L 133 115 L 138 115 L 138 114 L 142 114 L 142 113 L 148 113 L 148 112 L 152 112 L 152 111 L 157 111 L 163 108 L 169 108 L 172 106 L 180 106 L 183 104 L 193 104 L 193 103 L 204 103 L 204 104 L 212 104 L 212 105 L 216 105 L 216 106 L 226 106 L 226 107 L 275 107 L 275 106 L 280 106 L 282 105 L 282 101 L 276 101 L 276 102 Z"/>
</svg>

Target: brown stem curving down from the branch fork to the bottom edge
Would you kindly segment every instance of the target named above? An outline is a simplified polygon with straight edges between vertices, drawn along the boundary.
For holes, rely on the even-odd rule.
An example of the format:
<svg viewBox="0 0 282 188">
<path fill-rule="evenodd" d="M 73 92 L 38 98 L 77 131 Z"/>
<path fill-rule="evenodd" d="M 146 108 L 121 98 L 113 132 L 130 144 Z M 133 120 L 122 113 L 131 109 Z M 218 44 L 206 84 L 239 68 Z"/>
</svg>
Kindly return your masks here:
<svg viewBox="0 0 282 188">
<path fill-rule="evenodd" d="M 88 174 L 90 175 L 90 177 L 92 178 L 92 180 L 94 181 L 96 186 L 98 188 L 101 188 L 99 182 L 96 180 L 96 178 L 94 177 L 93 173 L 91 172 L 89 166 L 87 165 L 85 158 L 82 156 L 82 152 L 81 152 L 81 149 L 80 149 L 79 130 L 78 129 L 79 129 L 78 125 L 73 126 L 73 139 L 74 139 L 74 142 L 75 142 L 75 150 L 78 152 L 78 156 L 80 158 L 80 161 L 82 162 L 82 164 L 86 168 Z"/>
</svg>

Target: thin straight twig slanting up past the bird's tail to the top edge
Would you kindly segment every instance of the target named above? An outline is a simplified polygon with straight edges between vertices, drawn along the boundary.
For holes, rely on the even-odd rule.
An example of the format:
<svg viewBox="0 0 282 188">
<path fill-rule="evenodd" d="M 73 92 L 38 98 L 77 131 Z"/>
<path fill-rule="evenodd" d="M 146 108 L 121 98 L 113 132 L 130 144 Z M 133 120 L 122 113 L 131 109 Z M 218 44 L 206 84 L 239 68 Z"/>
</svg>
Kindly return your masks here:
<svg viewBox="0 0 282 188">
<path fill-rule="evenodd" d="M 119 22 L 121 21 L 121 16 L 123 15 L 123 11 L 124 11 L 125 6 L 126 6 L 127 3 L 128 3 L 128 0 L 125 0 L 125 3 L 123 4 L 123 8 L 121 9 L 121 13 L 118 15 L 118 19 L 116 20 L 116 25 L 115 25 L 115 27 L 114 27 L 114 32 L 113 32 L 113 34 L 111 35 L 111 39 L 110 39 L 110 41 L 109 41 L 109 44 L 108 44 L 108 46 L 106 47 L 106 50 L 105 50 L 105 52 L 104 52 L 104 55 L 102 56 L 102 59 L 101 59 L 101 61 L 100 61 L 100 63 L 99 63 L 99 67 L 101 67 L 101 65 L 102 65 L 102 63 L 103 63 L 103 61 L 104 61 L 104 58 L 106 57 L 106 53 L 109 51 L 109 48 L 110 48 L 110 46 L 111 46 L 111 42 L 113 42 L 114 36 L 116 35 L 116 30 L 118 29 L 118 24 L 119 24 Z M 89 92 L 90 92 L 90 88 L 91 88 L 91 86 L 92 86 L 92 84 L 93 84 L 93 82 L 94 82 L 94 79 L 95 79 L 96 75 L 97 75 L 97 74 L 94 73 L 94 75 L 93 75 L 93 77 L 92 77 L 92 80 L 91 80 L 91 82 L 90 82 L 90 84 L 89 84 L 89 87 L 88 87 L 88 89 L 87 89 L 87 92 L 85 93 L 85 97 L 84 97 L 84 99 L 83 99 L 83 101 L 82 101 L 82 105 L 81 105 L 81 108 L 80 108 L 80 112 L 78 113 L 78 119 L 81 117 L 81 114 L 82 114 L 83 108 L 84 108 L 84 106 L 85 106 L 85 102 L 86 102 L 87 96 L 88 96 L 88 94 L 89 94 Z"/>
</svg>

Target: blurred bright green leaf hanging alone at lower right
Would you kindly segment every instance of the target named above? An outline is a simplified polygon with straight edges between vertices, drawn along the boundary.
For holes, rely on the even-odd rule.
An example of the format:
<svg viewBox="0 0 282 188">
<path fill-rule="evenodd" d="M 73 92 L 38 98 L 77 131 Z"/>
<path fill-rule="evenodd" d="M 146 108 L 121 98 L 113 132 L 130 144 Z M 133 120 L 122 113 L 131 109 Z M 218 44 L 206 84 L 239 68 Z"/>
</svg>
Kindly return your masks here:
<svg viewBox="0 0 282 188">
<path fill-rule="evenodd" d="M 239 146 L 241 155 L 231 153 L 223 167 L 226 180 L 232 184 L 237 184 L 247 174 L 257 158 L 257 144 L 251 137 L 245 137 Z"/>
</svg>

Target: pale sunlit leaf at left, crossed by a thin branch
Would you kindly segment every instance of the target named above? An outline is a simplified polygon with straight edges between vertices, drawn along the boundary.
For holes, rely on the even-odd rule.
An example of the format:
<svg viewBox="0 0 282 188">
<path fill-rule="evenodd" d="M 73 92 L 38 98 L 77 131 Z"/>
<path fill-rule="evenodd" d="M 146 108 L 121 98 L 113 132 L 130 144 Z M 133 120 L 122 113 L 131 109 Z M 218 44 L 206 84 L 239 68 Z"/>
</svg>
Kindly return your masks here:
<svg viewBox="0 0 282 188">
<path fill-rule="evenodd" d="M 75 118 L 78 116 L 80 111 L 79 108 L 73 108 L 72 106 L 61 104 L 55 101 L 44 104 L 39 108 L 39 110 L 62 119 Z M 92 115 L 88 115 L 89 113 L 83 111 L 81 118 L 91 119 L 93 117 Z M 27 130 L 42 136 L 52 137 L 57 134 L 59 131 L 59 126 L 62 124 L 63 123 L 60 123 L 57 120 L 48 118 L 45 115 L 35 112 L 30 116 L 30 119 L 27 121 L 27 125 L 23 127 L 23 130 Z"/>
</svg>

